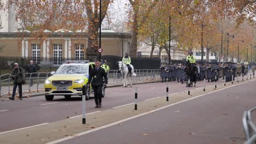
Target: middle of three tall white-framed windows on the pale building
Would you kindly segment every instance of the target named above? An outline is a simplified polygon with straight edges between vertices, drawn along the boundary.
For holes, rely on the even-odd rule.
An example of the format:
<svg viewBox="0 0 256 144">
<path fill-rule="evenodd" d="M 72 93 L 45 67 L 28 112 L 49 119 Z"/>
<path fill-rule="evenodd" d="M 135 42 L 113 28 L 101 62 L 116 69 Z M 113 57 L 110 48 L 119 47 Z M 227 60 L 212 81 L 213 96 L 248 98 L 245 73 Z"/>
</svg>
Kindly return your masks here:
<svg viewBox="0 0 256 144">
<path fill-rule="evenodd" d="M 54 65 L 61 65 L 62 62 L 62 44 L 53 44 Z"/>
</svg>

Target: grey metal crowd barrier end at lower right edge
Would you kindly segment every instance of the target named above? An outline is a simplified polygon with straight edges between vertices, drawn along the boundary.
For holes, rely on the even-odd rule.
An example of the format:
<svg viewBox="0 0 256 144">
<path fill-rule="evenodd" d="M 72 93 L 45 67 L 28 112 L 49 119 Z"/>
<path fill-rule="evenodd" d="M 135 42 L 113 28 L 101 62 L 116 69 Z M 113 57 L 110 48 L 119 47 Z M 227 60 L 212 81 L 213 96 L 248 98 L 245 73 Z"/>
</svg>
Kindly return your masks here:
<svg viewBox="0 0 256 144">
<path fill-rule="evenodd" d="M 253 109 L 245 111 L 243 113 L 243 130 L 245 130 L 245 144 L 252 144 L 256 142 L 256 126 L 252 122 L 252 112 L 256 110 L 256 107 Z"/>
</svg>

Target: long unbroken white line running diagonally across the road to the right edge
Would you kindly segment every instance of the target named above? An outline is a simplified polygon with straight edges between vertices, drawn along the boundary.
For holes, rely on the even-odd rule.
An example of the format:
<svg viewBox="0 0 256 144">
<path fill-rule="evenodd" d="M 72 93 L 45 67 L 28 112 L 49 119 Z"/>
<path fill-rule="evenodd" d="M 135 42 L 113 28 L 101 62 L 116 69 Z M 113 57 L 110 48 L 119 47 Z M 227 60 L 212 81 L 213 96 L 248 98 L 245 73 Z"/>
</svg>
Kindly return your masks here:
<svg viewBox="0 0 256 144">
<path fill-rule="evenodd" d="M 253 80 L 251 80 L 251 81 L 253 81 Z M 247 82 L 249 82 L 249 81 L 247 81 Z M 247 82 L 243 82 L 243 83 L 247 83 Z M 239 83 L 237 85 L 242 85 L 243 83 Z M 182 101 L 179 101 L 177 103 L 173 103 L 173 104 L 170 104 L 170 105 L 166 105 L 164 107 L 160 107 L 159 109 L 155 109 L 155 110 L 152 110 L 152 111 L 149 111 L 149 112 L 141 113 L 140 115 L 137 115 L 137 116 L 132 116 L 132 117 L 129 117 L 129 118 L 125 118 L 125 119 L 122 119 L 122 120 L 120 120 L 118 122 L 114 122 L 114 123 L 110 123 L 110 124 L 107 124 L 107 125 L 103 125 L 102 127 L 98 127 L 98 128 L 95 128 L 95 129 L 84 131 L 84 132 L 79 133 L 79 134 L 74 134 L 75 136 L 68 136 L 68 137 L 65 137 L 65 138 L 62 138 L 62 139 L 59 139 L 59 140 L 48 142 L 46 144 L 55 144 L 55 143 L 59 143 L 59 142 L 62 142 L 62 141 L 69 140 L 69 139 L 73 139 L 74 137 L 78 137 L 78 136 L 81 136 L 81 135 L 89 134 L 89 133 L 92 133 L 92 132 L 100 130 L 100 129 L 108 128 L 108 127 L 111 127 L 113 125 L 116 125 L 116 124 L 119 124 L 119 123 L 123 123 L 123 122 L 129 121 L 131 119 L 134 119 L 134 118 L 137 118 L 137 117 L 141 117 L 141 116 L 144 116 L 144 115 L 147 115 L 147 114 L 150 114 L 150 113 L 162 110 L 162 109 L 166 109 L 167 107 L 170 107 L 170 106 L 173 106 L 173 105 L 177 105 L 177 104 L 181 104 L 181 103 L 184 103 L 185 101 L 196 99 L 196 98 L 202 97 L 203 95 L 207 95 L 207 94 L 215 93 L 215 92 L 218 92 L 218 91 L 222 91 L 223 89 L 234 87 L 234 86 L 237 86 L 237 85 L 232 85 L 232 86 L 229 86 L 229 87 L 224 87 L 222 89 L 218 89 L 218 90 L 213 91 L 213 92 L 201 94 L 201 95 L 198 95 L 198 96 L 190 98 L 190 99 L 182 100 Z"/>
</svg>

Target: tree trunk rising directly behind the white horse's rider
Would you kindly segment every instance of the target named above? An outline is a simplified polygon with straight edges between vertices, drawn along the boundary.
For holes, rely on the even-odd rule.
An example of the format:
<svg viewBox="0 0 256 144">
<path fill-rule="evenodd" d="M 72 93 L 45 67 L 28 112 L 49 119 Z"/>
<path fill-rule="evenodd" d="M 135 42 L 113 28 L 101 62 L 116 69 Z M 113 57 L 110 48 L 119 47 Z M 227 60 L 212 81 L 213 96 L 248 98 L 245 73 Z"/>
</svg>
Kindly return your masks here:
<svg viewBox="0 0 256 144">
<path fill-rule="evenodd" d="M 137 41 L 138 41 L 138 13 L 134 10 L 132 23 L 132 39 L 131 39 L 131 57 L 137 57 Z"/>
</svg>

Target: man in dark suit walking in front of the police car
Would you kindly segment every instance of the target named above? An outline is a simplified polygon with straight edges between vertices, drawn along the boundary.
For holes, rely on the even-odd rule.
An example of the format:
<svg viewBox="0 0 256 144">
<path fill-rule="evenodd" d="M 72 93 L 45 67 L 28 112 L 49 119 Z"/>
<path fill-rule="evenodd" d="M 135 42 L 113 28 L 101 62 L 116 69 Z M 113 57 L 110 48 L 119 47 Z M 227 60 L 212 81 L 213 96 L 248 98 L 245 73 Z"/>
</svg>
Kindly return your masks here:
<svg viewBox="0 0 256 144">
<path fill-rule="evenodd" d="M 102 97 L 102 86 L 103 86 L 103 77 L 104 83 L 108 84 L 108 78 L 105 70 L 100 67 L 100 61 L 95 61 L 95 68 L 92 68 L 90 71 L 89 80 L 87 86 L 90 87 L 90 83 L 92 88 L 94 89 L 94 100 L 95 100 L 95 108 L 101 107 L 101 97 Z M 92 79 L 93 78 L 93 79 Z"/>
</svg>

